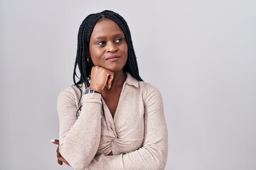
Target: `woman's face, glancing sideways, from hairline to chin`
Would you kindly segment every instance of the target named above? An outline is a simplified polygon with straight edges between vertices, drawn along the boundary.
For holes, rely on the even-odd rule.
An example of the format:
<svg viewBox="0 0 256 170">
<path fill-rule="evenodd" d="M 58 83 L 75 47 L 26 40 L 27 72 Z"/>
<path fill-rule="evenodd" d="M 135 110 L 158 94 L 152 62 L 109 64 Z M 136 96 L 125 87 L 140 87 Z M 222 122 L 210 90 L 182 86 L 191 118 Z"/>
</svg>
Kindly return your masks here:
<svg viewBox="0 0 256 170">
<path fill-rule="evenodd" d="M 90 57 L 93 64 L 122 72 L 127 62 L 127 42 L 121 28 L 110 19 L 96 23 L 90 37 Z"/>
</svg>

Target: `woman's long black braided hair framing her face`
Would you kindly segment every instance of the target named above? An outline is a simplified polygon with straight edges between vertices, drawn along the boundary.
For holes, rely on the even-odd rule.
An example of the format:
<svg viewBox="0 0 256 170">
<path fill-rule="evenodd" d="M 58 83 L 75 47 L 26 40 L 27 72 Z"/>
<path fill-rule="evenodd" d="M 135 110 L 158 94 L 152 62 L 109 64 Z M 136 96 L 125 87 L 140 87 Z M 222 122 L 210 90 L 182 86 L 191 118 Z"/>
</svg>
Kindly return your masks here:
<svg viewBox="0 0 256 170">
<path fill-rule="evenodd" d="M 88 79 L 90 78 L 91 69 L 94 66 L 92 62 L 90 62 L 90 37 L 92 35 L 92 30 L 95 27 L 96 23 L 100 21 L 100 19 L 102 18 L 108 18 L 117 23 L 117 25 L 122 29 L 124 33 L 125 40 L 127 41 L 128 46 L 128 57 L 127 63 L 124 65 L 123 72 L 129 72 L 129 74 L 131 74 L 132 77 L 134 77 L 138 81 L 143 81 L 142 78 L 139 76 L 137 59 L 134 52 L 134 47 L 132 45 L 132 37 L 127 22 L 124 20 L 124 18 L 122 18 L 122 16 L 120 16 L 118 13 L 115 13 L 114 11 L 105 10 L 100 13 L 92 13 L 89 16 L 87 16 L 84 21 L 82 21 L 78 31 L 78 50 L 75 58 L 73 81 L 74 85 L 77 86 L 80 90 L 80 100 L 82 98 L 82 84 L 85 84 L 85 88 L 90 86 L 90 82 Z M 76 73 L 77 67 L 80 71 L 80 77 L 78 77 L 78 74 Z M 76 81 L 76 77 L 79 79 L 79 81 Z M 82 106 L 78 108 L 78 111 L 81 107 Z M 105 118 L 103 104 L 102 110 L 103 117 Z M 78 111 L 76 114 L 77 117 Z"/>
</svg>

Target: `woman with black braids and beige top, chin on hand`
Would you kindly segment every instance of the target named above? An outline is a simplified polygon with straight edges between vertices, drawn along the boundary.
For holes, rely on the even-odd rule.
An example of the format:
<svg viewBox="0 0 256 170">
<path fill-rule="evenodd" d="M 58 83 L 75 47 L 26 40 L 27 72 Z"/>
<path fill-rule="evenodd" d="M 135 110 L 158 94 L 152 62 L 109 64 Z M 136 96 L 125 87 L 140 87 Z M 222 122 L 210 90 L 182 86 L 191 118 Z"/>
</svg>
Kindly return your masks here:
<svg viewBox="0 0 256 170">
<path fill-rule="evenodd" d="M 168 142 L 161 94 L 139 77 L 129 28 L 118 13 L 102 11 L 82 22 L 73 80 L 58 96 L 60 164 L 164 169 Z"/>
</svg>

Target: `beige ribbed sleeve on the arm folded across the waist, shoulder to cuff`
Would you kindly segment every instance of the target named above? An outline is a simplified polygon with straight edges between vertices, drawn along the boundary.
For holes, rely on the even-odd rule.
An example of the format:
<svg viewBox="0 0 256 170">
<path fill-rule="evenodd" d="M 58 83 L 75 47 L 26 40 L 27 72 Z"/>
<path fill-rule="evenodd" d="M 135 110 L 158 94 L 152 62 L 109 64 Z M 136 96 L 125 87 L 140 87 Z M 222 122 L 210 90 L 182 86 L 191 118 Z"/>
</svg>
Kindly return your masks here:
<svg viewBox="0 0 256 170">
<path fill-rule="evenodd" d="M 87 169 L 164 169 L 168 152 L 168 132 L 163 101 L 160 92 L 153 86 L 147 86 L 146 89 L 143 146 L 127 154 L 97 155 Z"/>
</svg>

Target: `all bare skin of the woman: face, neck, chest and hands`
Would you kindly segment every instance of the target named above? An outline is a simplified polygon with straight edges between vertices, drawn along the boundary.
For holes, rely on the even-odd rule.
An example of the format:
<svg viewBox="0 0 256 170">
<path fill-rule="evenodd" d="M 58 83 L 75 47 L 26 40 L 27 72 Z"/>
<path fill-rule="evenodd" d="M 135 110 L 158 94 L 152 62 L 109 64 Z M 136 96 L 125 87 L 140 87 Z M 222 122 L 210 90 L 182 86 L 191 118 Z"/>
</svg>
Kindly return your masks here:
<svg viewBox="0 0 256 170">
<path fill-rule="evenodd" d="M 100 92 L 114 118 L 119 96 L 126 79 L 123 68 L 127 62 L 127 42 L 121 28 L 114 21 L 98 21 L 90 37 L 90 57 L 95 65 L 91 70 L 90 89 Z M 58 140 L 51 140 L 59 146 Z M 59 147 L 58 147 L 59 148 Z M 57 148 L 58 164 L 70 166 Z M 110 152 L 109 155 L 112 155 Z"/>
</svg>

